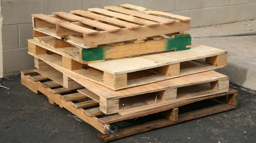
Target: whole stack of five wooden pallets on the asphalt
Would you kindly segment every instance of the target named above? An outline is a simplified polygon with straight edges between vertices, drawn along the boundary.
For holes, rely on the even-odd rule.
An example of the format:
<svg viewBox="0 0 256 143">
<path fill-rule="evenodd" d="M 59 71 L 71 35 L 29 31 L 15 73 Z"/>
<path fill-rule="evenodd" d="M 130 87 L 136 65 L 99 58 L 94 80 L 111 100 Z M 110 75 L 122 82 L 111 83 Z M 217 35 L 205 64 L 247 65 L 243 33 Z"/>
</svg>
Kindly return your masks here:
<svg viewBox="0 0 256 143">
<path fill-rule="evenodd" d="M 228 76 L 213 71 L 226 66 L 227 52 L 191 44 L 191 18 L 129 4 L 104 8 L 32 14 L 28 53 L 37 69 L 21 71 L 22 84 L 105 141 L 236 108 Z M 178 112 L 208 99 L 208 107 Z M 112 133 L 112 125 L 152 115 Z"/>
</svg>

